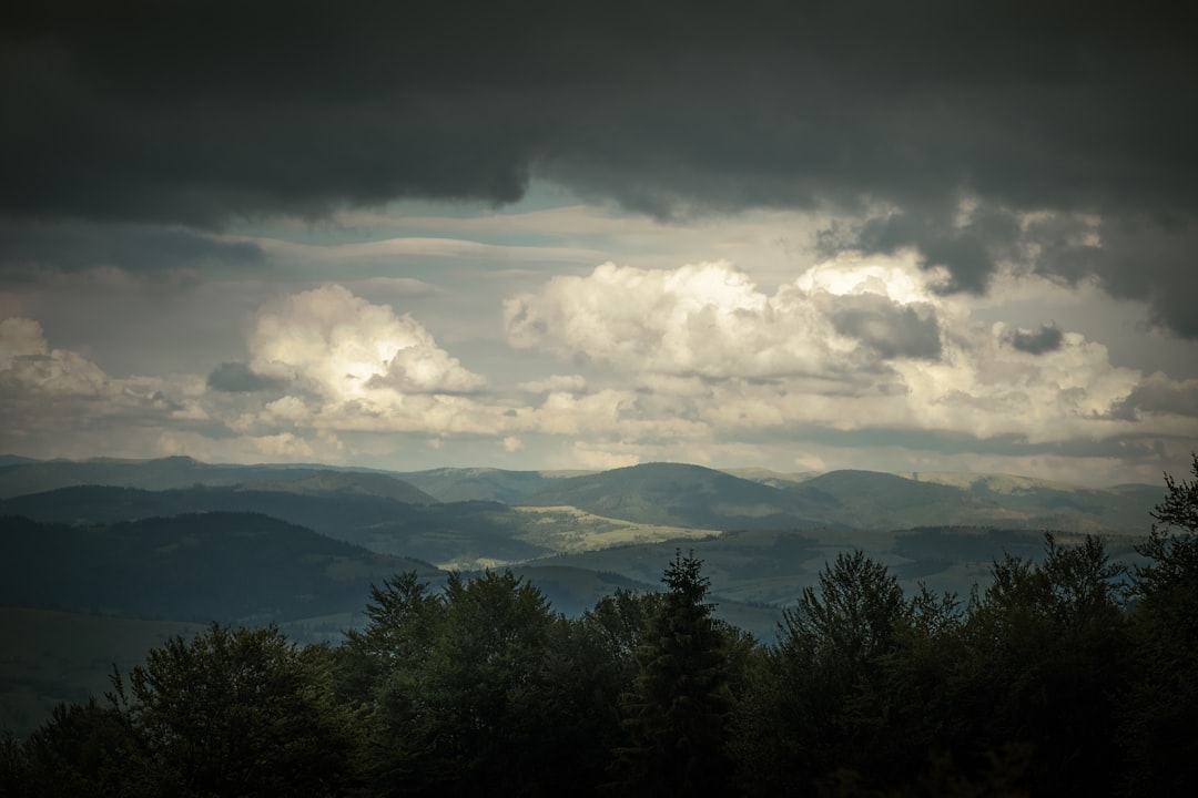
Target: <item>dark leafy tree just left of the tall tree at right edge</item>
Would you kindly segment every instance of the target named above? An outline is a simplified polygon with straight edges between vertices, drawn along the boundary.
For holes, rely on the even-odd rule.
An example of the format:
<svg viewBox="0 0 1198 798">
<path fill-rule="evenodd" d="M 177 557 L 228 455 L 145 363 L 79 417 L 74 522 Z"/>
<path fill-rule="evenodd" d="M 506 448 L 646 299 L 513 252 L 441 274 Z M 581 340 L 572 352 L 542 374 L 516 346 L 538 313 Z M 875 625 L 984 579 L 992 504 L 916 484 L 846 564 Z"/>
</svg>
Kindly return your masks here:
<svg viewBox="0 0 1198 798">
<path fill-rule="evenodd" d="M 1064 548 L 1046 535 L 1045 549 L 1039 565 L 996 562 L 993 584 L 970 608 L 951 688 L 961 736 L 975 744 L 964 753 L 1025 743 L 1033 784 L 1101 793 L 1123 769 L 1112 732 L 1132 668 L 1125 568 L 1093 536 Z"/>
</svg>

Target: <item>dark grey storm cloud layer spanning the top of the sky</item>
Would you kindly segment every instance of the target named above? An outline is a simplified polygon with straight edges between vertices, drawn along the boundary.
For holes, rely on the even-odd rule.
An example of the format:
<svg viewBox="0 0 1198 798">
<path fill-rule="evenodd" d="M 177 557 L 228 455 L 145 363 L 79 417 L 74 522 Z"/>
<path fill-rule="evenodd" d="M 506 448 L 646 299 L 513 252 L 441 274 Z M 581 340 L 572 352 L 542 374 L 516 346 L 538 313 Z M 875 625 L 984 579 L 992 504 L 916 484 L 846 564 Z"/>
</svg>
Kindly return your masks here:
<svg viewBox="0 0 1198 798">
<path fill-rule="evenodd" d="M 1014 244 L 1012 212 L 1135 218 L 1187 246 L 1198 226 L 1198 49 L 1126 5 L 25 6 L 0 42 L 11 215 L 507 202 L 537 173 L 661 217 L 888 203 L 857 244 L 913 246 L 967 291 Z M 981 215 L 958 230 L 962 195 Z M 1130 288 L 1125 257 L 1082 268 L 1198 336 L 1176 306 L 1193 292 L 1169 290 L 1192 252 Z"/>
</svg>

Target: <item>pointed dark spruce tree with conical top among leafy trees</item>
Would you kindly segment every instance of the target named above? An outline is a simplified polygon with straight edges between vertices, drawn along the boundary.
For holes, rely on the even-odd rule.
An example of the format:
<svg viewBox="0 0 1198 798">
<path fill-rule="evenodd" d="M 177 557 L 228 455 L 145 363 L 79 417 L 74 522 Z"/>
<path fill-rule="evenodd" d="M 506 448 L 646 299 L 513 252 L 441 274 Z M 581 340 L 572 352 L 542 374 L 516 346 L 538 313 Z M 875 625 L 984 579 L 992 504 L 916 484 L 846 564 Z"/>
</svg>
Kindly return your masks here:
<svg viewBox="0 0 1198 798">
<path fill-rule="evenodd" d="M 704 601 L 701 567 L 676 554 L 662 578 L 668 591 L 636 652 L 633 689 L 621 700 L 628 736 L 613 767 L 621 794 L 720 794 L 728 782 L 728 641 Z"/>
</svg>

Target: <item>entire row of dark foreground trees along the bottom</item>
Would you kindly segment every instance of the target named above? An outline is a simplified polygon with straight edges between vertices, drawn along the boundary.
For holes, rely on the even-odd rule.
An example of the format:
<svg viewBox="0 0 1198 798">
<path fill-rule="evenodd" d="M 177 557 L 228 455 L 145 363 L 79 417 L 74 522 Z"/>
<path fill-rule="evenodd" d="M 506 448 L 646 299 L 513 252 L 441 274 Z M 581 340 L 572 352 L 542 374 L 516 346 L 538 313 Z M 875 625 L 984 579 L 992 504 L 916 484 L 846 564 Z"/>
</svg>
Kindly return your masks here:
<svg viewBox="0 0 1198 798">
<path fill-rule="evenodd" d="M 6 796 L 1198 794 L 1198 456 L 1101 540 L 907 596 L 828 564 L 763 644 L 702 562 L 556 614 L 510 572 L 370 591 L 340 645 L 212 625 L 0 741 Z"/>
</svg>

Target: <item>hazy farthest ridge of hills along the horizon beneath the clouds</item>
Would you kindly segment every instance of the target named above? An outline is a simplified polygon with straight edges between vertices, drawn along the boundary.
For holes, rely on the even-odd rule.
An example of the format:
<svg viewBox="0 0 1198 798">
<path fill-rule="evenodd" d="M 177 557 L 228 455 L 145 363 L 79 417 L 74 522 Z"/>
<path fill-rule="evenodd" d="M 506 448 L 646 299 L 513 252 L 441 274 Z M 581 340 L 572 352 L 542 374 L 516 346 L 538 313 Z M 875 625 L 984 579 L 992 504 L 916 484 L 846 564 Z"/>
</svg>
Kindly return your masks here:
<svg viewBox="0 0 1198 798">
<path fill-rule="evenodd" d="M 311 524 L 329 534 L 340 535 L 353 526 L 357 531 L 351 540 L 363 543 L 364 530 L 374 524 L 369 544 L 386 546 L 387 550 L 393 550 L 391 535 L 379 524 L 398 528 L 385 514 L 374 517 L 369 524 L 365 520 L 353 524 L 343 523 L 335 513 L 325 520 L 304 513 L 323 518 L 326 510 L 310 505 L 319 498 L 350 502 L 356 518 L 364 518 L 362 512 L 371 500 L 429 507 L 437 502 L 484 501 L 507 507 L 575 507 L 635 524 L 696 530 L 813 526 L 883 530 L 946 524 L 1144 534 L 1148 512 L 1160 500 L 1160 487 L 1150 485 L 1100 489 L 1016 475 L 945 471 L 783 474 L 756 468 L 722 471 L 685 463 L 646 463 L 609 471 L 441 468 L 397 473 L 319 465 L 220 465 L 189 457 L 18 459 L 22 462 L 0 465 L 0 500 L 89 485 L 149 491 L 225 488 L 240 492 L 240 498 L 213 506 L 211 495 L 202 497 L 199 504 L 192 497 L 176 512 L 254 510 Z M 256 498 L 250 500 L 252 497 Z M 290 507 L 284 507 L 286 497 L 296 498 Z M 503 514 L 498 508 L 459 507 L 435 517 L 403 511 L 394 520 L 401 522 L 403 535 L 417 532 L 430 523 L 449 532 L 464 529 L 462 512 L 471 516 L 467 526 L 476 531 L 490 523 L 486 518 L 498 519 Z M 501 525 L 502 535 L 507 535 L 521 522 L 504 518 Z M 465 537 L 459 540 L 466 546 Z"/>
</svg>

